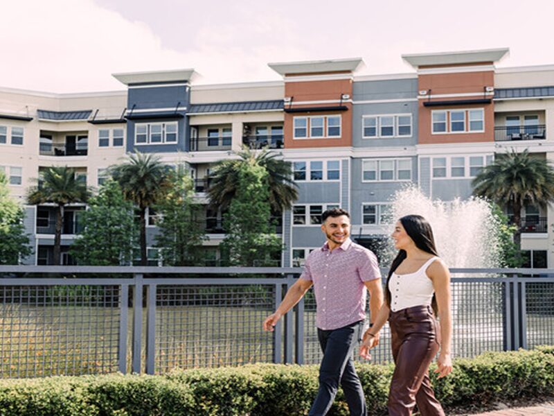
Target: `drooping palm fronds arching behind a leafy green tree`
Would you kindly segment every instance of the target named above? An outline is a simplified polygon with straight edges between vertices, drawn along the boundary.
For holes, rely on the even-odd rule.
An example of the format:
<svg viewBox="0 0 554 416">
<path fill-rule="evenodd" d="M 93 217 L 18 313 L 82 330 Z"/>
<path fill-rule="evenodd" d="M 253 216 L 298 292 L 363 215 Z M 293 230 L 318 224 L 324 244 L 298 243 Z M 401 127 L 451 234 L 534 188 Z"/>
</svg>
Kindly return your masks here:
<svg viewBox="0 0 554 416">
<path fill-rule="evenodd" d="M 238 152 L 240 159 L 226 159 L 215 165 L 210 175 L 208 198 L 213 207 L 225 210 L 231 205 L 238 184 L 238 172 L 244 163 L 263 166 L 268 173 L 269 204 L 271 211 L 280 213 L 290 209 L 298 198 L 297 185 L 292 180 L 292 168 L 289 162 L 279 159 L 269 150 L 254 151 L 243 147 Z"/>
</svg>

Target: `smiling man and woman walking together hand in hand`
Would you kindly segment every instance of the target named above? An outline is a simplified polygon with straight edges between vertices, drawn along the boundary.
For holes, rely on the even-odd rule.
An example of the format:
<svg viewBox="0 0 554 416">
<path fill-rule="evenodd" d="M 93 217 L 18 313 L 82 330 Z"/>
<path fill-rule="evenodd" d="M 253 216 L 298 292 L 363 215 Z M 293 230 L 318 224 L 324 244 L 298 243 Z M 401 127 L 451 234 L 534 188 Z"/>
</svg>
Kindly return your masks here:
<svg viewBox="0 0 554 416">
<path fill-rule="evenodd" d="M 410 215 L 395 224 L 392 237 L 399 252 L 388 272 L 384 302 L 377 258 L 350 241 L 348 212 L 329 209 L 323 213 L 322 223 L 327 241 L 310 253 L 300 279 L 287 291 L 277 311 L 264 321 L 264 328 L 273 331 L 277 321 L 314 286 L 323 359 L 319 391 L 309 415 L 325 415 L 339 385 L 350 415 L 366 415 L 364 391 L 352 351 L 361 340 L 359 354 L 370 359 L 369 350 L 379 343 L 379 331 L 388 320 L 396 365 L 388 414 L 409 416 L 417 404 L 422 416 L 444 416 L 431 387 L 429 365 L 440 349 L 438 376 L 452 371 L 450 277 L 437 256 L 429 223 L 421 216 Z M 370 294 L 371 322 L 363 332 L 366 289 Z"/>
</svg>

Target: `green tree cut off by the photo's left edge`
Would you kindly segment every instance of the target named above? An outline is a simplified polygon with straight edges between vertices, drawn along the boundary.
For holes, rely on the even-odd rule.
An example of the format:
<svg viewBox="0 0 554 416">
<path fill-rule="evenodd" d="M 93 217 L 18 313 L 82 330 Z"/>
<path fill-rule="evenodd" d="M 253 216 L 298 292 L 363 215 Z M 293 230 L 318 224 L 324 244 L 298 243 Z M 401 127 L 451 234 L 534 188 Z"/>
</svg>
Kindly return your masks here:
<svg viewBox="0 0 554 416">
<path fill-rule="evenodd" d="M 0 172 L 0 264 L 19 264 L 20 259 L 33 253 L 25 234 L 24 216 L 24 210 L 10 198 L 6 175 Z"/>
</svg>

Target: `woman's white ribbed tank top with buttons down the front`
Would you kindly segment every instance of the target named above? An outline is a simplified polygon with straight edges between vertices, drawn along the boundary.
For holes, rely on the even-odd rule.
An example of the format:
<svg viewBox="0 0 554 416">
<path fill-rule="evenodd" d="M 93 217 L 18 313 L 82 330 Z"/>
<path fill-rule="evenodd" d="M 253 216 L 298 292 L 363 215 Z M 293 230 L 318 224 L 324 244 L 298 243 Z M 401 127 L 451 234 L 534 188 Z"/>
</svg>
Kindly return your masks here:
<svg viewBox="0 0 554 416">
<path fill-rule="evenodd" d="M 430 305 L 435 290 L 433 282 L 427 276 L 427 268 L 439 257 L 431 257 L 416 272 L 397 275 L 395 272 L 388 281 L 391 291 L 391 311 L 410 308 L 411 306 Z"/>
</svg>

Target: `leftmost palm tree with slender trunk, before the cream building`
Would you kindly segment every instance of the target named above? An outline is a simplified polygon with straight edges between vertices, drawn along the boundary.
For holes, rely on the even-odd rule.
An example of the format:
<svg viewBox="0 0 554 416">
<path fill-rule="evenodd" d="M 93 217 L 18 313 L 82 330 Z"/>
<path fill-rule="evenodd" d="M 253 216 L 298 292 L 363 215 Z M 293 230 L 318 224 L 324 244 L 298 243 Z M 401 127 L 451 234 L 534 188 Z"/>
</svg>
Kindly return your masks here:
<svg viewBox="0 0 554 416">
<path fill-rule="evenodd" d="M 64 208 L 68 204 L 87 202 L 90 194 L 87 184 L 77 180 L 75 170 L 67 166 L 47 168 L 37 180 L 37 185 L 27 191 L 27 202 L 30 205 L 53 203 L 57 206 L 53 259 L 55 266 L 60 264 Z"/>
</svg>

